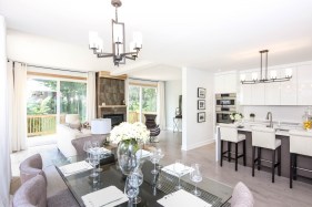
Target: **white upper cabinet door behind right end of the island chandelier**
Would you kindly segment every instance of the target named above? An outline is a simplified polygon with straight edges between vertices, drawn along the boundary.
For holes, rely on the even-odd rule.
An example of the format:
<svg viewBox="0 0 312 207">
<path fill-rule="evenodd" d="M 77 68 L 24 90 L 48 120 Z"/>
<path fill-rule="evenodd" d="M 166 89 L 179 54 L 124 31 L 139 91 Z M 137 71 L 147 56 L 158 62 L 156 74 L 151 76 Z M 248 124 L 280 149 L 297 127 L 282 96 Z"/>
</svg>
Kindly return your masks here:
<svg viewBox="0 0 312 207">
<path fill-rule="evenodd" d="M 281 82 L 281 105 L 296 105 L 298 101 L 298 75 L 296 69 L 291 68 L 292 79 L 286 82 Z M 281 69 L 281 76 L 286 75 L 286 69 Z"/>
</svg>

